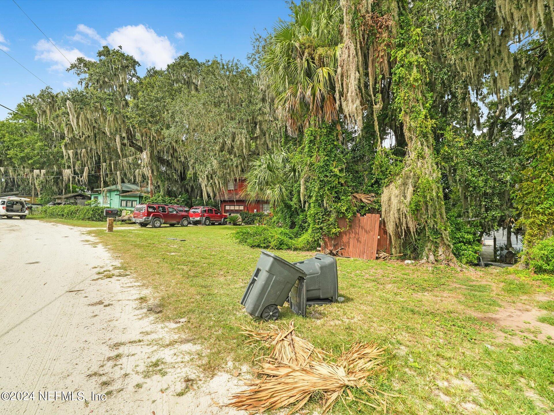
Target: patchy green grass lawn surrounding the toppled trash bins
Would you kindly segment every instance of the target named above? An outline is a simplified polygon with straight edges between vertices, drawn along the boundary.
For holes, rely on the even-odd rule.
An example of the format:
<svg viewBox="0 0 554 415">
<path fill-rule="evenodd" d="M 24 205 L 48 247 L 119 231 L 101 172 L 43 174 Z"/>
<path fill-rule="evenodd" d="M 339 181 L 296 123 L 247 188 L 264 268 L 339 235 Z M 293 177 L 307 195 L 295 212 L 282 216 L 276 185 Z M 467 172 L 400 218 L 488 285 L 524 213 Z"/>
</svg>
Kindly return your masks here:
<svg viewBox="0 0 554 415">
<path fill-rule="evenodd" d="M 57 221 L 59 222 L 59 221 Z M 71 223 L 73 225 L 73 223 Z M 182 330 L 204 346 L 202 367 L 224 370 L 250 362 L 239 325 L 255 322 L 239 304 L 259 250 L 238 245 L 231 226 L 93 230 L 120 257 L 126 271 L 152 290 L 162 320 L 183 317 Z M 170 238 L 177 238 L 172 240 Z M 279 251 L 297 261 L 312 252 Z M 540 330 L 511 330 L 490 319 L 505 307 L 552 310 L 552 288 L 509 268 L 405 266 L 402 262 L 338 258 L 340 304 L 309 308 L 309 318 L 288 307 L 297 334 L 340 352 L 355 341 L 387 346 L 387 371 L 375 380 L 389 398 L 387 413 L 539 414 L 554 410 L 554 343 Z M 538 294 L 538 295 L 537 295 Z M 545 300 L 545 298 L 550 299 Z M 545 310 L 545 311 L 542 311 Z M 506 333 L 507 340 L 502 333 Z M 354 401 L 351 401 L 354 402 Z M 339 401 L 332 413 L 382 413 Z"/>
</svg>

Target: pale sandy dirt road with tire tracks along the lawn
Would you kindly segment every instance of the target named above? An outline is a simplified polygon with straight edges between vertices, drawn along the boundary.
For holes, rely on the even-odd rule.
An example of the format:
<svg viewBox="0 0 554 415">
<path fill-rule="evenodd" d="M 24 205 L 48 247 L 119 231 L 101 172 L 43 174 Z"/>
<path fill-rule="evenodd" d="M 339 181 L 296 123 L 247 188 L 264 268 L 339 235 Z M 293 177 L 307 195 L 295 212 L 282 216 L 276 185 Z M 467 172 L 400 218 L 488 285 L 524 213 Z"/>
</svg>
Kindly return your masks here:
<svg viewBox="0 0 554 415">
<path fill-rule="evenodd" d="M 186 319 L 156 324 L 147 290 L 85 230 L 0 219 L 0 243 L 0 392 L 34 392 L 1 414 L 238 413 L 220 406 L 238 379 L 203 379 L 173 330 Z"/>
</svg>

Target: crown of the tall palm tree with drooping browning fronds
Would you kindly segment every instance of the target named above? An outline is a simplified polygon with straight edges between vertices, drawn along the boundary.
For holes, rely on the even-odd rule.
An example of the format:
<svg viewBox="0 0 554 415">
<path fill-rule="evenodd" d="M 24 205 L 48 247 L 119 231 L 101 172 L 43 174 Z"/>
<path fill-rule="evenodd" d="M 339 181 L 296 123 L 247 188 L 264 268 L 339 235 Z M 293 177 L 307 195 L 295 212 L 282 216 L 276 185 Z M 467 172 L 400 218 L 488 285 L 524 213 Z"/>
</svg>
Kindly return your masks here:
<svg viewBox="0 0 554 415">
<path fill-rule="evenodd" d="M 268 38 L 261 75 L 289 134 L 296 136 L 312 117 L 338 120 L 335 75 L 342 9 L 337 0 L 303 1 L 291 9 L 292 20 L 280 20 Z"/>
</svg>

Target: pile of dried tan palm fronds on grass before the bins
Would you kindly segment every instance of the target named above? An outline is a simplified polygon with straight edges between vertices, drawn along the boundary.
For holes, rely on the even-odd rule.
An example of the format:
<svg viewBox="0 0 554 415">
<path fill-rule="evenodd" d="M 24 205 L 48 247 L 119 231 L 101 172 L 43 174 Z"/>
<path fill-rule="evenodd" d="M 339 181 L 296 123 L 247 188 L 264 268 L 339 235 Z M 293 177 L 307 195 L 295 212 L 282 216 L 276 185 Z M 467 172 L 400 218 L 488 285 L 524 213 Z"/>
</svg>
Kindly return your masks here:
<svg viewBox="0 0 554 415">
<path fill-rule="evenodd" d="M 325 414 L 339 398 L 344 400 L 342 393 L 347 388 L 362 388 L 369 396 L 377 397 L 379 391 L 371 387 L 368 377 L 383 370 L 384 349 L 375 344 L 353 344 L 333 362 L 332 356 L 296 336 L 292 321 L 284 329 L 271 326 L 271 331 L 244 329 L 242 333 L 250 337 L 250 343 L 261 340 L 273 347 L 255 371 L 257 377 L 244 380 L 247 390 L 231 397 L 230 407 L 264 412 L 292 406 L 291 414 L 320 391 Z M 353 399 L 352 393 L 347 393 L 348 399 Z"/>
</svg>

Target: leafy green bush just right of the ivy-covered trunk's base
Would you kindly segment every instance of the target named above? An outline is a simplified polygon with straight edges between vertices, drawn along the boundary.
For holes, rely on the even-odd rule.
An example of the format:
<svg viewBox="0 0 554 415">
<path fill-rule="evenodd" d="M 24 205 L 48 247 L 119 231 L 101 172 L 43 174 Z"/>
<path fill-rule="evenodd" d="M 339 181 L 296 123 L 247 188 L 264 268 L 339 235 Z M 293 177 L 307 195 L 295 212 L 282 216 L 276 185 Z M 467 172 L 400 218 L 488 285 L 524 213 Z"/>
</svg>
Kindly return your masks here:
<svg viewBox="0 0 554 415">
<path fill-rule="evenodd" d="M 481 251 L 479 229 L 475 225 L 471 226 L 468 222 L 456 217 L 455 211 L 449 213 L 448 222 L 454 256 L 463 264 L 477 263 Z"/>
</svg>

